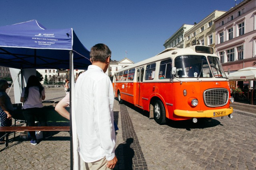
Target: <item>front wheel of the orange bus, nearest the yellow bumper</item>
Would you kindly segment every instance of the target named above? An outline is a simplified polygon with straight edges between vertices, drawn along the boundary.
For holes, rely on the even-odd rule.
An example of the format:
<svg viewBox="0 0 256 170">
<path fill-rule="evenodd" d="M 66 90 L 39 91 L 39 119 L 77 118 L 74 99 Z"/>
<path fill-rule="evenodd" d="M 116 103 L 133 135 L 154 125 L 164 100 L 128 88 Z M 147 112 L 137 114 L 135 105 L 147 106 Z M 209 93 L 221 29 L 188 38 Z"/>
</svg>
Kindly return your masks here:
<svg viewBox="0 0 256 170">
<path fill-rule="evenodd" d="M 166 123 L 164 104 L 160 100 L 156 100 L 154 103 L 154 119 L 160 125 Z"/>
</svg>

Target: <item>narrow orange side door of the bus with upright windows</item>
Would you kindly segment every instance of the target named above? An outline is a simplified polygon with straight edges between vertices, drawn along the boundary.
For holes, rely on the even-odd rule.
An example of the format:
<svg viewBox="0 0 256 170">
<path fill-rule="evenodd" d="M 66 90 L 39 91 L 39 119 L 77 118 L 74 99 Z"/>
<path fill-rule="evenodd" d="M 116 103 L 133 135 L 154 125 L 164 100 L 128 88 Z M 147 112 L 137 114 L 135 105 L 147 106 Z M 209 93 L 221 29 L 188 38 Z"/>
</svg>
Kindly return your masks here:
<svg viewBox="0 0 256 170">
<path fill-rule="evenodd" d="M 136 70 L 136 87 L 135 87 L 135 105 L 142 106 L 142 82 L 144 77 L 144 68 Z"/>
</svg>

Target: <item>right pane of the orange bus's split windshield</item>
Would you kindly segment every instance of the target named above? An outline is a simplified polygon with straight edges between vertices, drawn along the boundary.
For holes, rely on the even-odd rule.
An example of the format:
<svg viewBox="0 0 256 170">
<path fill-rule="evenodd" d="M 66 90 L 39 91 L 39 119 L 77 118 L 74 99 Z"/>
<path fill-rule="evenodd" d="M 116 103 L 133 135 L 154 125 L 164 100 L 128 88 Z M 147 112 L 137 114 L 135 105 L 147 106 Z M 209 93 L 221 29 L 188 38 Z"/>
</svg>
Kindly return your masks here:
<svg viewBox="0 0 256 170">
<path fill-rule="evenodd" d="M 207 58 L 210 63 L 214 77 L 227 78 L 227 76 L 220 64 L 220 60 L 217 57 L 212 57 L 212 56 L 208 56 Z"/>
</svg>

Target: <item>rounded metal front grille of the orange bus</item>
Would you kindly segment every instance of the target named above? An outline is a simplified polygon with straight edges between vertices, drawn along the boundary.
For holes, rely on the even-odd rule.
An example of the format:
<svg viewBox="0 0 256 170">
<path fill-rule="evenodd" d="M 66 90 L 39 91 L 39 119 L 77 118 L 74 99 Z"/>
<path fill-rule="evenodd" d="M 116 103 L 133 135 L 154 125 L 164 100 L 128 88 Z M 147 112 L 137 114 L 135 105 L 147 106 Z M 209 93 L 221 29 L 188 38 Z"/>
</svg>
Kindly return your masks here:
<svg viewBox="0 0 256 170">
<path fill-rule="evenodd" d="M 204 104 L 208 107 L 220 107 L 228 103 L 228 90 L 212 88 L 204 91 Z"/>
</svg>

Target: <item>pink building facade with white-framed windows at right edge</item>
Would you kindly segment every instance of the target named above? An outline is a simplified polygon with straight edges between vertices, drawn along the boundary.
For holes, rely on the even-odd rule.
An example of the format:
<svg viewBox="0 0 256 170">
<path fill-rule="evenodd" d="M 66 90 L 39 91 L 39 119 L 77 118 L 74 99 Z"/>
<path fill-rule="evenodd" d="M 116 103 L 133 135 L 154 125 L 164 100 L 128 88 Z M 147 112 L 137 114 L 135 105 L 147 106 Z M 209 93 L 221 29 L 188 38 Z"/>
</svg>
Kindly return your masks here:
<svg viewBox="0 0 256 170">
<path fill-rule="evenodd" d="M 244 0 L 214 20 L 215 52 L 225 71 L 256 66 L 256 0 Z"/>
</svg>

